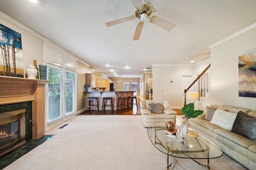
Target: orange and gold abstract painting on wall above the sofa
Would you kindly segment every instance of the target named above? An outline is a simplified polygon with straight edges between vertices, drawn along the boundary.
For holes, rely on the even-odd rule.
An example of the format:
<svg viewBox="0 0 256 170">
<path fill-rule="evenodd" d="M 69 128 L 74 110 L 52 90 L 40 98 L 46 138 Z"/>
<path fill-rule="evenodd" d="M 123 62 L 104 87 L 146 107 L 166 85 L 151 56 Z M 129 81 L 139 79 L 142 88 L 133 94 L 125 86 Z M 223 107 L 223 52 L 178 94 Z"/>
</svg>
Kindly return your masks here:
<svg viewBox="0 0 256 170">
<path fill-rule="evenodd" d="M 256 52 L 238 57 L 238 93 L 256 98 Z"/>
</svg>

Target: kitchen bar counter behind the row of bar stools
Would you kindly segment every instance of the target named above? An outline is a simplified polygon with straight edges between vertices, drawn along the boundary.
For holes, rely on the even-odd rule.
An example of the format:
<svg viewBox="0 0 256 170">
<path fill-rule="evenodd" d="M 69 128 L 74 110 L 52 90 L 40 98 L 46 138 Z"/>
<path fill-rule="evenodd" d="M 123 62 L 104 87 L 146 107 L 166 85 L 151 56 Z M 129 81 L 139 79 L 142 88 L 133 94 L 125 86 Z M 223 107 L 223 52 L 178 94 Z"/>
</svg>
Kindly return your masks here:
<svg viewBox="0 0 256 170">
<path fill-rule="evenodd" d="M 98 98 L 98 105 L 99 105 L 99 110 L 102 108 L 102 100 L 103 98 L 112 98 L 113 102 L 113 109 L 116 110 L 117 104 L 118 104 L 118 98 L 119 97 L 128 97 L 128 96 L 133 96 L 133 93 L 136 91 L 114 91 L 114 92 L 106 92 L 106 91 L 96 91 L 96 92 L 84 92 L 85 94 L 85 102 L 87 102 L 87 98 L 93 98 L 97 97 Z M 108 104 L 110 101 L 108 101 Z M 86 106 L 86 103 L 85 103 Z M 91 110 L 94 109 L 94 107 L 90 108 Z M 110 110 L 111 107 L 105 107 L 105 110 Z M 121 107 L 119 107 L 121 109 Z"/>
</svg>

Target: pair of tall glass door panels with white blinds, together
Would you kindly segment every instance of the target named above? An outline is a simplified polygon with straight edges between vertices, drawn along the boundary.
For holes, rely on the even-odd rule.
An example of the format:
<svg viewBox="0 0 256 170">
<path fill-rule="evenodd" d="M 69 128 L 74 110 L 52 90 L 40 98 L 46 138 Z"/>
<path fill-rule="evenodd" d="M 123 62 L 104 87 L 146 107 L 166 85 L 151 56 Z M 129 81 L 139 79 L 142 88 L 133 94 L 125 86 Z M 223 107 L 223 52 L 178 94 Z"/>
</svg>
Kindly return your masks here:
<svg viewBox="0 0 256 170">
<path fill-rule="evenodd" d="M 75 74 L 48 67 L 47 123 L 75 113 Z"/>
</svg>

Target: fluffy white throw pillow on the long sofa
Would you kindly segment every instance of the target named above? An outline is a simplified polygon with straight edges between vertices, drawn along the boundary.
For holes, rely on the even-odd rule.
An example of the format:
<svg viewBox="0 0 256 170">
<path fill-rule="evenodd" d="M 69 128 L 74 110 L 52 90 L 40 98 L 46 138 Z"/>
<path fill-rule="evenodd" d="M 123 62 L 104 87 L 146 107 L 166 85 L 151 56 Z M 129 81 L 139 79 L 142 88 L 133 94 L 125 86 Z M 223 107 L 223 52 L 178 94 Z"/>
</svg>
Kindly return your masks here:
<svg viewBox="0 0 256 170">
<path fill-rule="evenodd" d="M 231 113 L 224 110 L 216 110 L 210 123 L 231 131 L 235 119 L 236 113 Z"/>
</svg>

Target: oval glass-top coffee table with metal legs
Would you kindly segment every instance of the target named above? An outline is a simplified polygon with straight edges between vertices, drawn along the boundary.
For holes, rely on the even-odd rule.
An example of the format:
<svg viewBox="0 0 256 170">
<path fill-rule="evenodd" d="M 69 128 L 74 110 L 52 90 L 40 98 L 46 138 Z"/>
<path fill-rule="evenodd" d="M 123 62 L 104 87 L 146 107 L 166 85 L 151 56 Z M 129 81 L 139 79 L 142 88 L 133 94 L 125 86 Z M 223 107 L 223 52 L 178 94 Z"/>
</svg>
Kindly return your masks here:
<svg viewBox="0 0 256 170">
<path fill-rule="evenodd" d="M 167 137 L 166 128 L 148 127 L 148 137 L 156 149 L 167 154 L 166 170 L 172 166 L 172 156 L 179 158 L 191 158 L 196 163 L 210 169 L 210 158 L 222 156 L 222 150 L 210 139 L 193 129 L 188 130 L 188 135 L 182 141 L 175 137 Z M 169 164 L 169 155 L 171 163 Z M 207 164 L 202 164 L 195 159 L 207 159 Z"/>
</svg>

